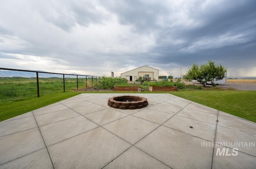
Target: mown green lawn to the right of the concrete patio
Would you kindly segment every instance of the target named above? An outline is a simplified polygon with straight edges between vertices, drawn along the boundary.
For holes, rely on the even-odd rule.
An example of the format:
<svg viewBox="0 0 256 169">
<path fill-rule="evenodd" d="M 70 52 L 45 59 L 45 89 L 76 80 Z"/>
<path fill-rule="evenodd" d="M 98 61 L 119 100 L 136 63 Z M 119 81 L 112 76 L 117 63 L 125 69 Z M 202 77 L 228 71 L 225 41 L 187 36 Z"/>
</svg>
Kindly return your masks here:
<svg viewBox="0 0 256 169">
<path fill-rule="evenodd" d="M 171 94 L 256 122 L 256 91 L 184 91 Z"/>
</svg>

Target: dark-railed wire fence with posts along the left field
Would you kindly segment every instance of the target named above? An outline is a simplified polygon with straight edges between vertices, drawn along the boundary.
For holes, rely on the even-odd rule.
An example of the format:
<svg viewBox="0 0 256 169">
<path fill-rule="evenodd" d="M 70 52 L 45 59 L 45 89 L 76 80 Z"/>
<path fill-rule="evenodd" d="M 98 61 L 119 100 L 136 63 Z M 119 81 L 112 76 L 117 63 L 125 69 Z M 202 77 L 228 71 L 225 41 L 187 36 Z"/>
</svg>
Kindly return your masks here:
<svg viewBox="0 0 256 169">
<path fill-rule="evenodd" d="M 98 76 L 0 68 L 0 101 L 22 99 L 97 84 Z"/>
</svg>

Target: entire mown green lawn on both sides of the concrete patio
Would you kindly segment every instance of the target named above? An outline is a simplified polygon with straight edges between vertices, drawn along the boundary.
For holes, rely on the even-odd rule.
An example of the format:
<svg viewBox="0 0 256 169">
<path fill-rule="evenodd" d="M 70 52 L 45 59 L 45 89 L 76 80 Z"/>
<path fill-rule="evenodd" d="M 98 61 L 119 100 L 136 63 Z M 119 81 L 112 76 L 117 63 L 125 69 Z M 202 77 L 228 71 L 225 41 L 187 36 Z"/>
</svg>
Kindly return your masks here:
<svg viewBox="0 0 256 169">
<path fill-rule="evenodd" d="M 83 92 L 58 92 L 42 95 L 39 98 L 27 98 L 16 102 L 0 102 L 1 112 L 0 121 L 6 120 L 30 112 L 37 108 L 47 106 L 49 104 L 76 96 Z M 88 93 L 88 92 L 87 92 Z M 90 92 L 99 93 L 99 92 Z M 100 92 L 111 93 L 111 92 Z M 120 92 L 123 93 L 123 92 Z M 138 93 L 138 92 L 132 92 Z M 144 92 L 143 92 L 144 93 Z M 152 92 L 146 92 L 152 93 Z M 156 92 L 154 92 L 156 93 Z M 164 92 L 161 92 L 164 93 Z M 170 94 L 186 98 L 188 100 L 233 114 L 235 116 L 245 118 L 256 122 L 256 91 L 241 91 L 241 90 L 194 90 L 169 92 Z"/>
</svg>

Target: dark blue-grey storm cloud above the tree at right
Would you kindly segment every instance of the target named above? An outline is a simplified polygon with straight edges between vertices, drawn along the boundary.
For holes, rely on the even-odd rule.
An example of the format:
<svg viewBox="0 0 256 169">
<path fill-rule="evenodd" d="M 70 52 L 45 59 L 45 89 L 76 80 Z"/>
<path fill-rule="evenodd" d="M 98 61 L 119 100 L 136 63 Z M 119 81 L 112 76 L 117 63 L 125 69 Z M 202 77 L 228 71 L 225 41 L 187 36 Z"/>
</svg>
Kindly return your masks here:
<svg viewBox="0 0 256 169">
<path fill-rule="evenodd" d="M 151 50 L 152 53 L 160 54 L 156 62 L 191 65 L 192 62 L 201 63 L 202 60 L 228 61 L 242 57 L 245 60 L 252 59 L 252 63 L 255 63 L 256 20 L 253 18 L 256 18 L 256 2 L 232 2 L 218 4 L 216 6 L 218 8 L 210 9 L 205 13 L 199 11 L 200 16 L 192 14 L 191 18 L 195 17 L 195 20 L 201 23 L 195 28 L 191 26 L 192 28 L 180 27 L 175 30 L 162 29 L 156 43 L 159 45 Z M 225 8 L 226 6 L 228 7 Z M 237 35 L 239 36 L 236 37 Z M 170 43 L 179 39 L 184 42 Z M 198 41 L 202 41 L 202 44 L 199 43 L 190 49 Z M 246 46 L 254 47 L 248 50 Z"/>
</svg>

